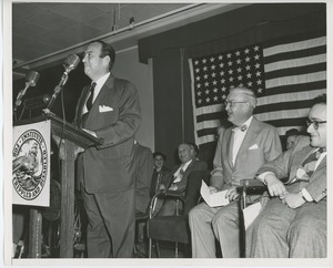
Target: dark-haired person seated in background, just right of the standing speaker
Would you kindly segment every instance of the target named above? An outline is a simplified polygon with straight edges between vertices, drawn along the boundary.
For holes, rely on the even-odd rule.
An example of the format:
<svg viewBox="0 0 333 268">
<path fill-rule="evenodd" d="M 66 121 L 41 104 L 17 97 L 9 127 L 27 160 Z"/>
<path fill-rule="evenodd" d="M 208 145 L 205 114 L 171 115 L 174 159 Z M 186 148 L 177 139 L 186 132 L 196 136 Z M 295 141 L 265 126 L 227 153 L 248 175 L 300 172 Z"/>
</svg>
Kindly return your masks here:
<svg viewBox="0 0 333 268">
<path fill-rule="evenodd" d="M 167 156 L 161 152 L 153 153 L 154 168 L 151 179 L 150 196 L 153 197 L 160 192 L 160 186 L 163 177 L 170 172 L 170 169 L 164 165 L 167 162 Z"/>
</svg>

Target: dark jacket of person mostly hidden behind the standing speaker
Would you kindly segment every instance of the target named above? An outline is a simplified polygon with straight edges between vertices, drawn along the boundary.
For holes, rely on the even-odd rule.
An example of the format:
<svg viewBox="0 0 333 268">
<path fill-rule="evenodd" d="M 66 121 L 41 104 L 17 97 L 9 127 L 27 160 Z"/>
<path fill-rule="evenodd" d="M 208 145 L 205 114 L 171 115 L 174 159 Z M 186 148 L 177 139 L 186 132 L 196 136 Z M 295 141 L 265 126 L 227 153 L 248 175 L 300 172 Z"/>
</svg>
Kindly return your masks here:
<svg viewBox="0 0 333 268">
<path fill-rule="evenodd" d="M 135 161 L 135 209 L 145 213 L 150 202 L 151 178 L 154 168 L 152 152 L 139 143 L 134 144 Z"/>
</svg>

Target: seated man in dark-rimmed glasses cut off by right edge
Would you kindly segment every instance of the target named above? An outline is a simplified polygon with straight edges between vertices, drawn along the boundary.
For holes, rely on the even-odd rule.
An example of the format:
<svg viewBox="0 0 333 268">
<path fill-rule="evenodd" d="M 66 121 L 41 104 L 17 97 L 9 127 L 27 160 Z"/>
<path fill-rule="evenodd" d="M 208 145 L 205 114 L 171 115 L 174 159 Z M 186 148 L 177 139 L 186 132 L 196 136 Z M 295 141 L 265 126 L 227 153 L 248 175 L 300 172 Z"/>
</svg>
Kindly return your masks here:
<svg viewBox="0 0 333 268">
<path fill-rule="evenodd" d="M 293 150 L 259 169 L 272 198 L 246 230 L 248 257 L 326 257 L 325 95 L 314 99 L 307 132 L 310 138 L 299 136 Z"/>
</svg>

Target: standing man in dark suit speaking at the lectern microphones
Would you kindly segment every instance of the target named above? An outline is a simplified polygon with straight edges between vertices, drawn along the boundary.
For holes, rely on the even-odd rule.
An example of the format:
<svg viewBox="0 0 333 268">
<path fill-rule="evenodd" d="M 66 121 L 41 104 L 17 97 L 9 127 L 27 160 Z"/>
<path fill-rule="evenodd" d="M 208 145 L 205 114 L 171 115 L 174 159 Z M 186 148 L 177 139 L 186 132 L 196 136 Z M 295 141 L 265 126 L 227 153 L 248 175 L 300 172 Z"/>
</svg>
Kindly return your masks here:
<svg viewBox="0 0 333 268">
<path fill-rule="evenodd" d="M 74 124 L 103 143 L 78 157 L 78 186 L 88 215 L 89 258 L 129 258 L 134 244 L 134 134 L 141 124 L 135 86 L 111 73 L 112 45 L 91 42 L 83 56 L 91 85 L 82 90 Z"/>
</svg>

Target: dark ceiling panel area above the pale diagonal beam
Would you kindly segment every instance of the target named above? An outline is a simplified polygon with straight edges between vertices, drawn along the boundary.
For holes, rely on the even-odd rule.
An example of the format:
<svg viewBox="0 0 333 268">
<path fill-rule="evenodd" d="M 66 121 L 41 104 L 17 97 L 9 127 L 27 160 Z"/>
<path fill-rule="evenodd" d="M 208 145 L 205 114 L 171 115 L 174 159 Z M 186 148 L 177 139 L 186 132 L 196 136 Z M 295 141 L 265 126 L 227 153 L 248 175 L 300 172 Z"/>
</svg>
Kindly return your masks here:
<svg viewBox="0 0 333 268">
<path fill-rule="evenodd" d="M 189 3 L 13 3 L 12 52 L 30 61 Z"/>
</svg>

